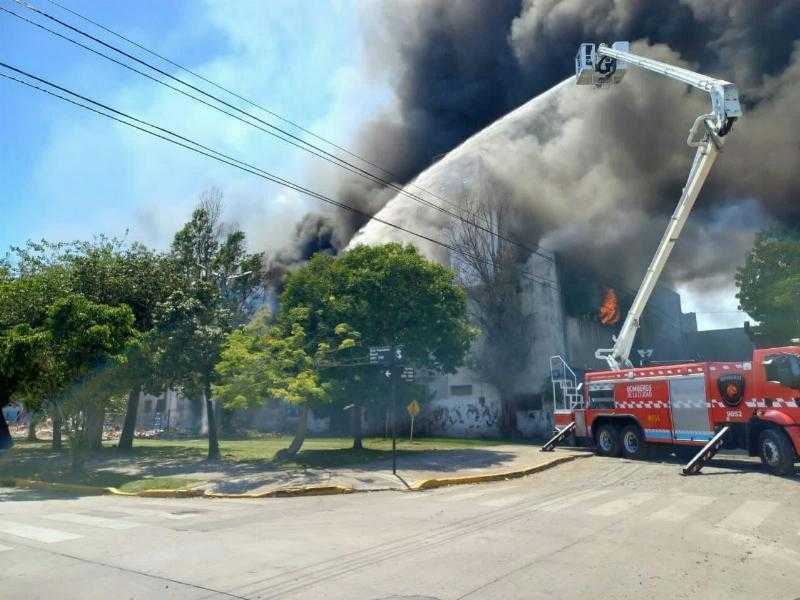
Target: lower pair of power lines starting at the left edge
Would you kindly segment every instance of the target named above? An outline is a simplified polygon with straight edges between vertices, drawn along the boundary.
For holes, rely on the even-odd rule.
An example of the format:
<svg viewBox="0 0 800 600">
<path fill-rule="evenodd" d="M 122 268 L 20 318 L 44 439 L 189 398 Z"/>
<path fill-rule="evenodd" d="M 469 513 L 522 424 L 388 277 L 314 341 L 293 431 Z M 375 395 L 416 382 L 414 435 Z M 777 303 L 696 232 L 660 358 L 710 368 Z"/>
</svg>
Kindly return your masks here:
<svg viewBox="0 0 800 600">
<path fill-rule="evenodd" d="M 387 221 L 385 219 L 382 219 L 380 217 L 377 217 L 375 215 L 372 215 L 370 213 L 362 211 L 362 210 L 360 210 L 358 208 L 355 208 L 353 206 L 350 206 L 350 205 L 345 204 L 343 202 L 340 202 L 338 200 L 334 200 L 333 198 L 325 196 L 324 194 L 321 194 L 319 192 L 315 192 L 315 191 L 313 191 L 313 190 L 311 190 L 309 188 L 303 187 L 303 186 L 301 186 L 301 185 L 299 185 L 297 183 L 294 183 L 294 182 L 292 182 L 292 181 L 290 181 L 288 179 L 284 179 L 282 177 L 274 175 L 274 174 L 272 174 L 272 173 L 270 173 L 268 171 L 260 169 L 259 167 L 251 165 L 251 164 L 249 164 L 249 163 L 247 163 L 245 161 L 236 159 L 236 158 L 228 156 L 228 155 L 226 155 L 226 154 L 224 154 L 222 152 L 219 152 L 217 150 L 209 148 L 208 146 L 205 146 L 205 145 L 203 145 L 203 144 L 201 144 L 199 142 L 196 142 L 196 141 L 194 141 L 194 140 L 192 140 L 190 138 L 187 138 L 185 136 L 177 134 L 177 133 L 175 133 L 175 132 L 173 132 L 173 131 L 171 131 L 171 130 L 169 130 L 167 128 L 160 127 L 158 125 L 149 123 L 148 121 L 145 121 L 143 119 L 139 119 L 137 117 L 134 117 L 132 115 L 129 115 L 127 113 L 119 111 L 119 110 L 117 110 L 117 109 L 115 109 L 113 107 L 110 107 L 110 106 L 106 105 L 106 104 L 102 104 L 102 103 L 97 102 L 95 100 L 92 100 L 91 98 L 88 98 L 88 97 L 86 97 L 84 95 L 78 94 L 77 92 L 73 92 L 72 90 L 69 90 L 69 89 L 67 89 L 65 87 L 59 86 L 57 84 L 54 84 L 54 83 L 52 83 L 52 82 L 50 82 L 50 81 L 48 81 L 48 80 L 46 80 L 44 78 L 37 77 L 36 75 L 28 73 L 28 72 L 26 72 L 26 71 L 24 71 L 22 69 L 18 69 L 17 67 L 14 67 L 12 65 L 6 64 L 4 62 L 0 62 L 0 67 L 3 67 L 5 69 L 11 70 L 11 71 L 14 71 L 15 73 L 23 75 L 24 77 L 28 77 L 30 79 L 33 79 L 34 81 L 38 81 L 38 82 L 40 82 L 40 83 L 42 83 L 44 85 L 50 86 L 50 87 L 52 87 L 54 89 L 62 91 L 62 92 L 66 93 L 66 94 L 69 94 L 71 96 L 74 96 L 75 98 L 80 98 L 84 102 L 88 102 L 88 103 L 93 104 L 93 105 L 95 105 L 97 107 L 100 107 L 100 109 L 102 109 L 102 110 L 100 110 L 98 108 L 93 108 L 92 106 L 89 106 L 87 104 L 84 104 L 82 102 L 79 102 L 79 101 L 71 99 L 71 98 L 67 98 L 66 96 L 63 96 L 63 95 L 61 95 L 61 94 L 59 94 L 57 92 L 53 92 L 52 90 L 48 90 L 48 89 L 43 88 L 43 87 L 41 87 L 39 85 L 30 83 L 28 81 L 24 81 L 22 79 L 19 79 L 17 77 L 11 76 L 11 75 L 0 73 L 0 77 L 4 77 L 6 79 L 10 79 L 10 80 L 15 81 L 17 83 L 23 84 L 23 85 L 28 86 L 28 87 L 33 88 L 33 89 L 36 89 L 36 90 L 38 90 L 40 92 L 44 92 L 44 93 L 46 93 L 46 94 L 48 94 L 50 96 L 59 98 L 59 99 L 61 99 L 63 101 L 66 101 L 66 102 L 69 102 L 70 104 L 73 104 L 75 106 L 79 106 L 81 108 L 89 110 L 89 111 L 91 111 L 93 113 L 96 113 L 98 115 L 102 115 L 102 116 L 104 116 L 106 118 L 112 119 L 112 120 L 117 121 L 119 123 L 122 123 L 124 125 L 128 125 L 129 127 L 137 129 L 137 130 L 139 130 L 139 131 L 141 131 L 143 133 L 150 134 L 150 135 L 155 136 L 157 138 L 160 138 L 160 139 L 162 139 L 164 141 L 170 142 L 172 144 L 175 144 L 175 145 L 180 146 L 182 148 L 185 148 L 187 150 L 191 150 L 193 152 L 196 152 L 197 154 L 201 154 L 201 155 L 206 156 L 208 158 L 212 158 L 212 159 L 214 159 L 214 160 L 216 160 L 218 162 L 221 162 L 221 163 L 227 164 L 229 166 L 238 168 L 238 169 L 240 169 L 242 171 L 251 173 L 253 175 L 261 177 L 262 179 L 266 179 L 266 180 L 271 181 L 273 183 L 277 183 L 277 184 L 282 185 L 284 187 L 288 187 L 288 188 L 290 188 L 292 190 L 300 192 L 300 193 L 302 193 L 304 195 L 307 195 L 309 197 L 318 199 L 318 200 L 320 200 L 322 202 L 326 202 L 326 203 L 331 204 L 333 206 L 337 206 L 337 207 L 342 208 L 344 210 L 348 210 L 348 211 L 353 212 L 355 214 L 361 215 L 363 217 L 366 217 L 369 220 L 377 221 L 378 223 L 381 223 L 381 224 L 386 225 L 388 227 L 392 227 L 394 229 L 397 229 L 398 231 L 402 231 L 403 233 L 407 233 L 409 235 L 412 235 L 414 237 L 418 237 L 420 239 L 428 241 L 428 242 L 430 242 L 432 244 L 435 244 L 437 246 L 441 246 L 441 247 L 449 250 L 450 252 L 452 252 L 454 254 L 465 256 L 465 257 L 471 258 L 473 260 L 476 259 L 476 258 L 481 260 L 480 257 L 473 256 L 473 255 L 471 255 L 471 254 L 469 254 L 467 252 L 464 252 L 463 250 L 461 250 L 459 248 L 456 248 L 455 246 L 453 246 L 451 244 L 447 244 L 445 242 L 442 242 L 440 240 L 432 238 L 432 237 L 430 237 L 428 235 L 425 235 L 423 233 L 419 233 L 419 232 L 414 231 L 412 229 L 409 229 L 407 227 L 403 227 L 402 225 L 397 225 L 395 223 L 392 223 L 390 221 Z M 109 111 L 109 112 L 112 112 L 114 114 L 109 114 L 109 112 L 104 112 L 104 111 Z M 119 116 L 114 116 L 115 114 L 119 115 Z M 131 121 L 134 121 L 134 122 L 132 123 L 130 121 L 126 121 L 125 119 L 130 119 Z M 136 123 L 139 123 L 139 125 L 137 125 Z M 147 127 L 150 127 L 152 129 L 156 129 L 158 131 L 161 131 L 163 134 L 162 133 L 157 133 L 156 131 L 151 131 L 150 129 L 147 129 Z M 172 136 L 172 137 L 168 137 L 168 136 Z M 173 138 L 177 138 L 177 139 L 173 139 Z M 181 141 L 179 141 L 179 140 L 181 140 Z M 553 289 L 555 289 L 555 290 L 559 290 L 560 289 L 558 287 L 558 283 L 555 282 L 555 281 L 552 281 L 550 279 L 546 279 L 544 277 L 535 275 L 533 273 L 528 273 L 528 272 L 522 272 L 522 273 L 526 277 L 528 277 L 528 278 L 530 278 L 530 279 L 532 279 L 534 281 L 537 281 L 537 282 L 541 283 L 542 285 L 547 285 L 549 287 L 553 287 Z"/>
</svg>

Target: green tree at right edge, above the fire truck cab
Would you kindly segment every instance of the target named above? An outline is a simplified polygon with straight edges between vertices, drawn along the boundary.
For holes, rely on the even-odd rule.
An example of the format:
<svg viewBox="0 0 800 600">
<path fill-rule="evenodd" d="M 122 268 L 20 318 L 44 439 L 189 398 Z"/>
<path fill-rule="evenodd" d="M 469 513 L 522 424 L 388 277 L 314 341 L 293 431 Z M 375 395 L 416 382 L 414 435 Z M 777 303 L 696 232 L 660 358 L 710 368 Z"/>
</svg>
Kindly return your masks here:
<svg viewBox="0 0 800 600">
<path fill-rule="evenodd" d="M 759 233 L 736 286 L 739 308 L 758 322 L 751 331 L 759 346 L 800 338 L 800 229 Z"/>
</svg>

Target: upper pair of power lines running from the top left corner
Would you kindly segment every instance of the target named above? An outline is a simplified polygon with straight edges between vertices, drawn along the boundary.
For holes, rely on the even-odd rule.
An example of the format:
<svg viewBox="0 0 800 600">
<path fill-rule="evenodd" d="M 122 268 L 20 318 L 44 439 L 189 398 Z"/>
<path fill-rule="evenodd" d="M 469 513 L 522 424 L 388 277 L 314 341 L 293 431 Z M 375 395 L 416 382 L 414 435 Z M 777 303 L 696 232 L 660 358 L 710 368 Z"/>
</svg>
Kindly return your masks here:
<svg viewBox="0 0 800 600">
<path fill-rule="evenodd" d="M 187 87 L 189 89 L 192 89 L 192 90 L 202 94 L 203 96 L 211 98 L 215 102 L 218 102 L 219 104 L 222 104 L 223 106 L 226 106 L 226 107 L 228 107 L 228 108 L 230 108 L 232 110 L 235 110 L 238 113 L 246 115 L 250 119 L 253 119 L 253 120 L 255 120 L 255 121 L 259 122 L 259 123 L 262 123 L 263 125 L 265 125 L 269 129 L 275 130 L 275 131 L 279 132 L 280 134 L 282 134 L 283 136 L 286 136 L 286 137 L 288 137 L 290 139 L 286 139 L 286 137 L 281 137 L 281 135 L 276 134 L 274 131 L 265 130 L 262 127 L 259 127 L 259 126 L 255 125 L 254 123 L 252 123 L 252 122 L 250 122 L 250 121 L 248 121 L 246 119 L 242 119 L 240 117 L 232 115 L 231 113 L 221 109 L 218 106 L 210 104 L 210 103 L 208 103 L 208 102 L 206 102 L 206 101 L 204 101 L 204 100 L 202 100 L 200 98 L 197 98 L 196 96 L 194 96 L 192 94 L 189 94 L 189 93 L 187 93 L 187 92 L 185 92 L 183 90 L 175 88 L 174 86 L 171 86 L 171 85 L 167 84 L 166 82 L 161 81 L 158 78 L 155 78 L 155 77 L 152 77 L 152 76 L 150 76 L 150 75 L 148 75 L 146 73 L 143 73 L 142 71 L 139 71 L 139 70 L 131 67 L 130 65 L 127 65 L 126 63 L 123 63 L 121 61 L 115 60 L 115 59 L 109 57 L 108 55 L 97 51 L 96 49 L 90 48 L 89 46 L 86 46 L 86 45 L 84 45 L 84 44 L 82 44 L 82 43 L 80 43 L 80 42 L 78 42 L 76 40 L 73 40 L 72 38 L 69 38 L 69 37 L 67 37 L 67 36 L 65 36 L 63 34 L 60 34 L 60 33 L 56 32 L 56 31 L 54 31 L 54 30 L 52 30 L 52 29 L 50 29 L 48 27 L 45 27 L 44 25 L 41 25 L 40 23 L 36 23 L 35 21 L 27 19 L 27 18 L 23 17 L 22 15 L 19 15 L 18 13 L 15 13 L 14 11 L 11 11 L 9 9 L 2 8 L 2 7 L 0 7 L 0 10 L 3 10 L 7 14 L 13 15 L 13 16 L 15 16 L 15 17 L 17 17 L 17 18 L 19 18 L 19 19 L 21 19 L 21 20 L 23 20 L 23 21 L 25 21 L 25 22 L 27 22 L 29 24 L 35 25 L 35 26 L 43 29 L 44 31 L 47 31 L 47 32 L 49 32 L 49 33 L 51 33 L 53 35 L 56 35 L 56 36 L 66 40 L 66 41 L 74 43 L 74 44 L 80 46 L 81 48 L 89 50 L 89 51 L 93 52 L 94 54 L 97 54 L 98 56 L 101 56 L 101 57 L 103 57 L 103 58 L 105 58 L 107 60 L 110 60 L 110 61 L 112 61 L 112 62 L 114 62 L 114 63 L 116 63 L 116 64 L 118 64 L 120 66 L 123 66 L 123 67 L 125 67 L 127 69 L 130 69 L 131 71 L 133 71 L 133 72 L 135 72 L 135 73 L 137 73 L 139 75 L 143 75 L 143 76 L 147 77 L 148 79 L 150 79 L 152 81 L 155 81 L 156 83 L 159 83 L 159 84 L 164 85 L 165 87 L 167 87 L 169 89 L 172 89 L 173 91 L 177 91 L 177 92 L 183 94 L 184 96 L 192 98 L 195 101 L 201 102 L 205 106 L 208 106 L 208 107 L 210 107 L 210 108 L 212 108 L 214 110 L 217 110 L 217 111 L 219 111 L 219 112 L 221 112 L 223 114 L 226 114 L 228 116 L 234 117 L 237 120 L 239 120 L 239 121 L 241 121 L 241 122 L 243 122 L 243 123 L 245 123 L 247 125 L 250 125 L 251 127 L 254 127 L 254 128 L 256 128 L 256 129 L 258 129 L 260 131 L 263 131 L 264 133 L 269 134 L 269 135 L 272 135 L 273 137 L 276 137 L 277 139 L 280 139 L 280 140 L 282 140 L 282 141 L 284 141 L 284 142 L 286 142 L 286 143 L 288 143 L 288 144 L 290 144 L 290 145 L 292 145 L 292 146 L 294 146 L 296 148 L 299 148 L 299 149 L 301 149 L 301 150 L 303 150 L 305 152 L 309 152 L 310 154 L 312 154 L 314 156 L 317 156 L 319 158 L 322 158 L 323 160 L 325 160 L 325 161 L 327 161 L 327 162 L 329 162 L 331 164 L 334 164 L 334 165 L 336 165 L 336 166 L 338 166 L 340 168 L 343 168 L 343 169 L 345 169 L 345 170 L 347 170 L 347 171 L 349 171 L 349 172 L 351 172 L 351 173 L 353 173 L 355 175 L 364 177 L 364 178 L 368 179 L 369 181 L 372 181 L 373 183 L 377 183 L 377 184 L 379 184 L 379 185 L 381 185 L 383 187 L 391 188 L 391 189 L 395 190 L 396 192 L 398 192 L 399 194 L 403 194 L 404 196 L 407 196 L 407 197 L 409 197 L 409 198 L 411 198 L 411 199 L 413 199 L 413 200 L 415 200 L 415 201 L 417 201 L 417 202 L 419 202 L 419 203 L 421 203 L 421 204 L 423 204 L 425 206 L 428 206 L 429 208 L 432 208 L 434 210 L 438 210 L 438 211 L 440 211 L 440 212 L 442 212 L 444 214 L 449 215 L 452 218 L 455 218 L 455 219 L 458 219 L 458 220 L 460 220 L 460 221 L 462 221 L 464 223 L 467 223 L 472 227 L 476 227 L 477 229 L 483 231 L 484 233 L 487 233 L 487 234 L 489 234 L 491 236 L 494 236 L 494 237 L 496 237 L 498 239 L 501 239 L 501 240 L 503 240 L 503 241 L 505 241 L 507 243 L 514 244 L 514 245 L 522 248 L 526 252 L 529 252 L 530 254 L 539 254 L 540 256 L 542 256 L 543 258 L 546 258 L 547 260 L 552 260 L 552 257 L 550 257 L 549 255 L 545 254 L 544 252 L 541 252 L 541 251 L 539 251 L 537 249 L 529 248 L 528 246 L 526 246 L 525 244 L 522 244 L 518 240 L 515 240 L 513 238 L 505 236 L 505 235 L 503 235 L 503 234 L 501 234 L 499 232 L 492 231 L 491 229 L 488 229 L 488 228 L 486 228 L 486 227 L 484 227 L 484 226 L 482 226 L 482 225 L 480 225 L 480 224 L 478 224 L 478 223 L 476 223 L 474 221 L 469 221 L 468 219 L 465 219 L 462 215 L 459 215 L 457 213 L 449 211 L 446 208 L 444 208 L 443 206 L 437 205 L 437 204 L 435 204 L 435 203 L 433 203 L 433 202 L 431 202 L 429 200 L 426 200 L 426 199 L 424 199 L 424 198 L 422 198 L 420 196 L 417 196 L 416 194 L 413 194 L 410 191 L 408 191 L 402 185 L 398 185 L 398 184 L 396 184 L 394 182 L 391 182 L 391 181 L 388 181 L 386 179 L 383 179 L 382 177 L 380 177 L 378 175 L 375 175 L 374 173 L 370 173 L 369 171 L 359 167 L 358 165 L 355 165 L 355 164 L 353 164 L 351 162 L 348 162 L 347 160 L 345 160 L 345 159 L 343 159 L 343 158 L 341 158 L 339 156 L 336 156 L 335 154 L 332 154 L 332 153 L 328 152 L 327 150 L 325 150 L 323 148 L 320 148 L 319 146 L 316 146 L 316 145 L 308 142 L 307 140 L 304 140 L 303 138 L 292 134 L 289 131 L 286 131 L 285 129 L 281 129 L 278 126 L 276 126 L 276 125 L 274 125 L 272 123 L 269 123 L 268 121 L 264 121 L 263 119 L 261 119 L 261 118 L 255 116 L 255 115 L 253 115 L 253 114 L 251 114 L 251 113 L 239 108 L 238 106 L 235 106 L 235 105 L 233 105 L 233 104 L 231 104 L 229 102 L 226 102 L 225 100 L 219 98 L 218 96 L 215 96 L 214 94 L 211 94 L 211 93 L 203 90 L 202 88 L 199 88 L 199 87 L 197 87 L 195 85 L 192 85 L 191 83 L 188 83 L 188 82 L 184 81 L 183 79 L 175 77 L 174 75 L 164 71 L 163 69 L 160 69 L 157 66 L 154 66 L 154 65 L 152 65 L 152 64 L 150 64 L 150 63 L 148 63 L 148 62 L 146 62 L 146 61 L 144 61 L 144 60 L 142 60 L 142 59 L 140 59 L 140 58 L 138 58 L 138 57 L 126 52 L 126 51 L 124 51 L 124 50 L 121 50 L 120 48 L 117 48 L 116 46 L 114 46 L 112 44 L 109 44 L 108 42 L 105 42 L 104 40 L 102 40 L 102 39 L 100 39 L 100 38 L 98 38 L 96 36 L 93 36 L 90 33 L 87 33 L 87 32 L 83 31 L 82 29 L 80 29 L 78 27 L 75 27 L 73 25 L 70 25 L 69 23 L 66 23 L 65 21 L 62 21 L 61 19 L 51 15 L 47 11 L 44 11 L 44 10 L 42 10 L 40 8 L 37 8 L 37 7 L 33 6 L 33 5 L 25 2 L 24 0 L 14 0 L 14 1 L 17 4 L 27 8 L 28 10 L 31 10 L 32 12 L 35 12 L 35 13 L 45 17 L 46 19 L 49 19 L 49 20 L 51 20 L 51 21 L 53 21 L 55 23 L 58 23 L 62 27 L 65 27 L 65 28 L 67 28 L 67 29 L 69 29 L 71 31 L 74 31 L 75 33 L 77 33 L 77 34 L 79 34 L 79 35 L 81 35 L 81 36 L 83 36 L 85 38 L 88 38 L 88 39 L 92 40 L 95 43 L 101 44 L 102 46 L 104 46 L 104 47 L 106 47 L 106 48 L 108 48 L 108 49 L 110 49 L 110 50 L 112 50 L 112 51 L 114 51 L 114 52 L 116 52 L 116 53 L 118 53 L 118 54 L 120 54 L 120 55 L 122 55 L 122 56 L 124 56 L 124 57 L 126 57 L 128 59 L 130 59 L 130 60 L 133 60 L 133 61 L 135 61 L 135 62 L 137 62 L 137 63 L 139 63 L 141 65 L 144 65 L 145 67 L 151 69 L 152 71 L 155 71 L 156 73 L 159 73 L 160 75 L 162 75 L 164 77 L 167 77 L 167 78 L 169 78 L 169 79 L 171 79 L 171 80 L 173 80 L 173 81 L 175 81 L 175 82 L 177 82 L 177 83 L 179 83 L 179 84 L 181 84 L 181 85 L 183 85 L 183 86 L 185 86 L 185 87 Z M 309 148 L 311 148 L 313 150 L 310 150 Z"/>
</svg>

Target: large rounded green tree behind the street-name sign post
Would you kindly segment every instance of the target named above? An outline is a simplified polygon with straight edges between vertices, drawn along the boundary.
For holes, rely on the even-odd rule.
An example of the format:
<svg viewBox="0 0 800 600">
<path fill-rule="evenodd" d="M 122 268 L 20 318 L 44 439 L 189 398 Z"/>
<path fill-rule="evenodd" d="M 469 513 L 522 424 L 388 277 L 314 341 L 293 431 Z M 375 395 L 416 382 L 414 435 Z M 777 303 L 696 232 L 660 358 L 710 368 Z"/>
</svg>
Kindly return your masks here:
<svg viewBox="0 0 800 600">
<path fill-rule="evenodd" d="M 363 363 L 368 346 L 402 344 L 406 364 L 452 373 L 464 364 L 476 335 L 455 274 L 411 245 L 358 246 L 336 258 L 317 254 L 289 275 L 281 295 L 282 315 L 298 308 L 307 309 L 307 352 L 319 344 L 337 347 L 342 327 L 359 332 L 361 346 L 343 349 L 340 363 Z M 388 395 L 382 370 L 333 367 L 324 378 L 339 402 L 353 404 L 353 442 L 360 447 L 364 404 Z"/>
</svg>

